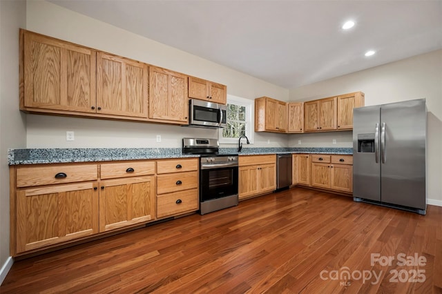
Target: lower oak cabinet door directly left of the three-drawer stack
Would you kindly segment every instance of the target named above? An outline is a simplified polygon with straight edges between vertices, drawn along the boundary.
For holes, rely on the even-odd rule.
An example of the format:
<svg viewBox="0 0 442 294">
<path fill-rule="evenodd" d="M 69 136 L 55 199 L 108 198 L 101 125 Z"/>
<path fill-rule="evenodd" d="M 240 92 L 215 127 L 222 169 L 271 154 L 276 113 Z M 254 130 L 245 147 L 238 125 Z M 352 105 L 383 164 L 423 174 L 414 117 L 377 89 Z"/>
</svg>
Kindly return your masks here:
<svg viewBox="0 0 442 294">
<path fill-rule="evenodd" d="M 99 231 L 155 219 L 155 177 L 100 182 Z"/>
</svg>

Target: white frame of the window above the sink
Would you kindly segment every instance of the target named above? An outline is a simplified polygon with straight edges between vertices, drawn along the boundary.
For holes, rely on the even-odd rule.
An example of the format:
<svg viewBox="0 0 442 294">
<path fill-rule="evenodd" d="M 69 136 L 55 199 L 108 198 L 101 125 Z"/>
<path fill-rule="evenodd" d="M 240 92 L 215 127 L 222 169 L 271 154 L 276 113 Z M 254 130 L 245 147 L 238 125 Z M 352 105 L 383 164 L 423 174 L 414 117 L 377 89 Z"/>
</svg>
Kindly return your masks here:
<svg viewBox="0 0 442 294">
<path fill-rule="evenodd" d="M 227 94 L 227 104 L 235 104 L 239 106 L 244 106 L 246 108 L 246 136 L 249 139 L 250 144 L 253 144 L 253 135 L 255 133 L 254 130 L 254 113 L 255 113 L 255 101 L 251 99 L 246 99 L 238 96 L 233 96 Z M 249 126 L 249 127 L 247 127 Z M 238 144 L 238 138 L 224 138 L 222 137 L 222 130 L 220 128 L 218 130 L 218 141 L 220 144 Z"/>
</svg>

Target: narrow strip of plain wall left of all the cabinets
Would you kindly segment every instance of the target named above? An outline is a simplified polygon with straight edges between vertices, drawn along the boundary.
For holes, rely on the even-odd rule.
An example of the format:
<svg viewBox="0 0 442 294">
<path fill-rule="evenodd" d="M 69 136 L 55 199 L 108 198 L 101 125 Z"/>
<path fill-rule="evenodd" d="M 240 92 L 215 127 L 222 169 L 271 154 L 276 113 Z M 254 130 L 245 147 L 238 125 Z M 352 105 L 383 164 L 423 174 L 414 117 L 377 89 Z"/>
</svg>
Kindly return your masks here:
<svg viewBox="0 0 442 294">
<path fill-rule="evenodd" d="M 0 284 L 9 255 L 8 148 L 26 147 L 26 117 L 19 111 L 19 28 L 26 26 L 25 1 L 0 1 Z"/>
</svg>

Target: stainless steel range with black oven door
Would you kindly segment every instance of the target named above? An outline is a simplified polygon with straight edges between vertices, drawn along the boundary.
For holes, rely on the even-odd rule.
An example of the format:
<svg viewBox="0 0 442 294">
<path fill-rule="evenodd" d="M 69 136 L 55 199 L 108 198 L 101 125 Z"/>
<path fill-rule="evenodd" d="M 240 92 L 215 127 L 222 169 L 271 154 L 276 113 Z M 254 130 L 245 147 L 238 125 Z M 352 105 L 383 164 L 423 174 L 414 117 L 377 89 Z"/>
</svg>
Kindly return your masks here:
<svg viewBox="0 0 442 294">
<path fill-rule="evenodd" d="M 200 213 L 238 205 L 238 155 L 218 154 L 218 139 L 183 138 L 182 153 L 200 155 Z"/>
</svg>

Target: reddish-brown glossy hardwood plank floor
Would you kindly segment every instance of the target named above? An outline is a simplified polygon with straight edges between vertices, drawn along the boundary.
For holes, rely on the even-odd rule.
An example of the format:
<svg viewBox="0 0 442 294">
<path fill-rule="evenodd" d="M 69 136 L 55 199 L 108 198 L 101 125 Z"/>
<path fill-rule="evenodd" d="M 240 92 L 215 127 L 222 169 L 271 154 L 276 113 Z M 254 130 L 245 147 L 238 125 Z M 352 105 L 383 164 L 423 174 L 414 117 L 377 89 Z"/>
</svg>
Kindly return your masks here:
<svg viewBox="0 0 442 294">
<path fill-rule="evenodd" d="M 442 293 L 442 207 L 292 188 L 16 261 L 0 292 Z"/>
</svg>

